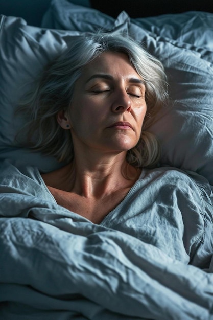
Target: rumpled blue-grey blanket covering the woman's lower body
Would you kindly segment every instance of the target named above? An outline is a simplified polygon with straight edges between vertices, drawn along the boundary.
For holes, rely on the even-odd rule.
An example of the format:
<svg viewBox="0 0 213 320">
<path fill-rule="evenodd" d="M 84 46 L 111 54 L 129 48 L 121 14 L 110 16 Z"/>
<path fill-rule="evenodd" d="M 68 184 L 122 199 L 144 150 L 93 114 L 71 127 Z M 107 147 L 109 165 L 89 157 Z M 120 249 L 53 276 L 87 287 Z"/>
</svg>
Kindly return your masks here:
<svg viewBox="0 0 213 320">
<path fill-rule="evenodd" d="M 213 319 L 212 273 L 15 182 L 0 189 L 1 319 Z"/>
</svg>

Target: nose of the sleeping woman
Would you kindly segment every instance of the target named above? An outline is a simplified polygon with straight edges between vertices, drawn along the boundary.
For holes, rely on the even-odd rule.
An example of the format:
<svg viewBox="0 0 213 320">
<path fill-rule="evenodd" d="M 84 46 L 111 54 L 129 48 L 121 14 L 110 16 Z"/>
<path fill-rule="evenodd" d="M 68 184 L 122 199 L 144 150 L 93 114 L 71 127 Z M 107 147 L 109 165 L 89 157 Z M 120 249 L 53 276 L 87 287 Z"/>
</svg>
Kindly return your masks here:
<svg viewBox="0 0 213 320">
<path fill-rule="evenodd" d="M 130 112 L 132 101 L 126 90 L 116 90 L 113 93 L 113 101 L 111 105 L 113 112 Z"/>
</svg>

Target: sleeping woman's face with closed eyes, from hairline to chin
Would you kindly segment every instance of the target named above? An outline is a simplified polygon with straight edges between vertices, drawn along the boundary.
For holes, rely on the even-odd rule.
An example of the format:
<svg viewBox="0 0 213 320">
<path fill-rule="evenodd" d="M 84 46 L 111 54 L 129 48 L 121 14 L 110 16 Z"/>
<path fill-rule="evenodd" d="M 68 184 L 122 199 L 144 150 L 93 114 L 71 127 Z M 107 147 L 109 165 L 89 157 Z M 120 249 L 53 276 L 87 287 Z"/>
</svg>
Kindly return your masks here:
<svg viewBox="0 0 213 320">
<path fill-rule="evenodd" d="M 103 152 L 133 148 L 146 114 L 145 85 L 123 53 L 105 52 L 83 68 L 69 121 L 75 147 Z"/>
</svg>

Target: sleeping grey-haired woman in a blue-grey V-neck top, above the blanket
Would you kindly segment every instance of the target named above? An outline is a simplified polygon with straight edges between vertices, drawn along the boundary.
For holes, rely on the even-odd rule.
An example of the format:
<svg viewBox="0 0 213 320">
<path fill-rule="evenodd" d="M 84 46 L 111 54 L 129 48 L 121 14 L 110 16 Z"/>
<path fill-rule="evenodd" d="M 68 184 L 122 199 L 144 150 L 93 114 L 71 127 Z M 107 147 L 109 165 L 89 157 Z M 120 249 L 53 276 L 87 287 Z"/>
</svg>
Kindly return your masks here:
<svg viewBox="0 0 213 320">
<path fill-rule="evenodd" d="M 193 172 L 159 167 L 160 146 L 149 132 L 167 101 L 163 66 L 135 41 L 117 33 L 73 37 L 23 106 L 28 146 L 65 165 L 48 173 L 25 168 L 23 186 L 33 180 L 35 195 L 88 223 L 207 270 L 210 186 Z"/>
</svg>

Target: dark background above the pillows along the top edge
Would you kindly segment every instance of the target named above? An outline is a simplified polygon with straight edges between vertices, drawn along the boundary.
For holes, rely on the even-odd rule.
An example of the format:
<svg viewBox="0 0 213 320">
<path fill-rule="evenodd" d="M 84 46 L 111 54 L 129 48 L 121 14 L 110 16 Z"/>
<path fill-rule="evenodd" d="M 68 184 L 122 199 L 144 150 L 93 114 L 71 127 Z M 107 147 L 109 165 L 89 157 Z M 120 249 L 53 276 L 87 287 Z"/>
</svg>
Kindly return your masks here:
<svg viewBox="0 0 213 320">
<path fill-rule="evenodd" d="M 83 0 L 68 0 L 81 4 Z M 29 25 L 40 26 L 51 0 L 0 0 L 0 14 L 19 16 Z M 116 18 L 125 10 L 131 18 L 185 11 L 213 12 L 213 0 L 90 0 L 91 7 Z"/>
</svg>

